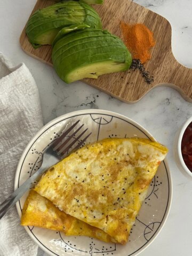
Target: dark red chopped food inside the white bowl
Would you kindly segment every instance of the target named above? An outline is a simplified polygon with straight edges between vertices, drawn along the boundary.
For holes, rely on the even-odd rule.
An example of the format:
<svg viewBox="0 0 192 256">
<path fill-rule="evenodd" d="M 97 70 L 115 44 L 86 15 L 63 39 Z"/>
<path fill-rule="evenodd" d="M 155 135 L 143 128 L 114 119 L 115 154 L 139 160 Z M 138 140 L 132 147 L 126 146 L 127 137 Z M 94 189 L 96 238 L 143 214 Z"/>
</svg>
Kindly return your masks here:
<svg viewBox="0 0 192 256">
<path fill-rule="evenodd" d="M 188 169 L 192 172 L 192 122 L 183 134 L 181 141 L 182 157 Z"/>
</svg>

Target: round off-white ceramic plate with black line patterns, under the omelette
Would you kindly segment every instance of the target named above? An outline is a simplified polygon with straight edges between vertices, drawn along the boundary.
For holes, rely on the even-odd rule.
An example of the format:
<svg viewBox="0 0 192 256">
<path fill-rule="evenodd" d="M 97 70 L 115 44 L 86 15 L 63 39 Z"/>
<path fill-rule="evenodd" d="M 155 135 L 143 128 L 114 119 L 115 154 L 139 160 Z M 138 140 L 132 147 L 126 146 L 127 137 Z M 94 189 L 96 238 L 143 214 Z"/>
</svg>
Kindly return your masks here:
<svg viewBox="0 0 192 256">
<path fill-rule="evenodd" d="M 29 142 L 23 152 L 15 175 L 14 188 L 18 188 L 41 166 L 43 149 L 61 134 L 63 127 L 78 119 L 92 132 L 87 143 L 103 138 L 140 137 L 154 140 L 152 135 L 131 119 L 106 110 L 81 110 L 60 116 L 46 124 Z M 27 194 L 17 203 L 21 210 Z M 25 227 L 34 241 L 50 255 L 59 256 L 130 256 L 138 255 L 155 239 L 170 211 L 172 199 L 171 174 L 167 162 L 158 168 L 149 186 L 126 245 L 108 244 L 90 237 L 65 236 L 62 232 L 37 227 Z"/>
</svg>

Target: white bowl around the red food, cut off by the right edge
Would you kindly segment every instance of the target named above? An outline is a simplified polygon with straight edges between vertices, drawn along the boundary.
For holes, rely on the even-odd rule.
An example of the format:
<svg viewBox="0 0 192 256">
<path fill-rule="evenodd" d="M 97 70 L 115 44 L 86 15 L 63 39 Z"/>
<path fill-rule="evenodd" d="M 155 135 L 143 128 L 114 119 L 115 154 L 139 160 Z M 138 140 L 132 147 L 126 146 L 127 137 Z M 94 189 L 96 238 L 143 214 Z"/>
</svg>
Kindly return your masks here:
<svg viewBox="0 0 192 256">
<path fill-rule="evenodd" d="M 175 158 L 175 162 L 179 168 L 179 170 L 187 177 L 192 179 L 192 172 L 188 169 L 185 164 L 182 153 L 181 153 L 181 141 L 183 138 L 183 134 L 187 129 L 188 125 L 192 122 L 192 116 L 180 127 L 179 131 L 175 135 L 174 147 L 173 147 L 173 155 Z"/>
</svg>

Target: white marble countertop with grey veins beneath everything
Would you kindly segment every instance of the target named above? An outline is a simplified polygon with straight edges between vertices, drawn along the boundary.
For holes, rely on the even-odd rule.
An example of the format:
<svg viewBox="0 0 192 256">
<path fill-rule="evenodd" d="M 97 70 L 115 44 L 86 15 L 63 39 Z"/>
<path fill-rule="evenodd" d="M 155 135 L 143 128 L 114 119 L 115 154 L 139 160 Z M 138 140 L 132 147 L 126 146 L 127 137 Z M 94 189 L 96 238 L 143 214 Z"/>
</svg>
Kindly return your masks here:
<svg viewBox="0 0 192 256">
<path fill-rule="evenodd" d="M 115 0 L 114 0 L 115 1 Z M 154 137 L 169 147 L 167 157 L 173 179 L 173 201 L 169 218 L 155 241 L 140 255 L 191 255 L 192 182 L 175 165 L 172 149 L 175 132 L 192 116 L 192 104 L 174 89 L 158 87 L 132 105 L 123 103 L 89 85 L 63 83 L 54 69 L 26 55 L 19 37 L 36 0 L 6 0 L 0 7 L 0 51 L 16 63 L 25 62 L 38 85 L 44 123 L 79 109 L 99 108 L 115 111 L 144 126 Z M 175 58 L 192 68 L 192 1 L 135 0 L 161 14 L 172 26 L 172 49 Z M 27 235 L 27 234 L 26 234 Z M 39 249 L 38 256 L 44 255 Z M 27 255 L 26 255 L 27 256 Z"/>
</svg>

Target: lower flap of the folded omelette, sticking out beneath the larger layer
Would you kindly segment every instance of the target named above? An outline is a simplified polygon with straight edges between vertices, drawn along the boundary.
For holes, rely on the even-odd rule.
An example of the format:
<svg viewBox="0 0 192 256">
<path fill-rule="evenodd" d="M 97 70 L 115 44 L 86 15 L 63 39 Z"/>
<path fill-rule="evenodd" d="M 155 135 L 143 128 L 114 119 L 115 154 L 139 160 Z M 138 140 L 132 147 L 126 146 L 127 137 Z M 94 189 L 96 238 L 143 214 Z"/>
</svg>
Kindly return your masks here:
<svg viewBox="0 0 192 256">
<path fill-rule="evenodd" d="M 99 228 L 92 227 L 63 211 L 34 190 L 29 192 L 21 215 L 22 226 L 35 226 L 63 231 L 67 236 L 91 236 L 104 242 L 115 242 Z"/>
</svg>

